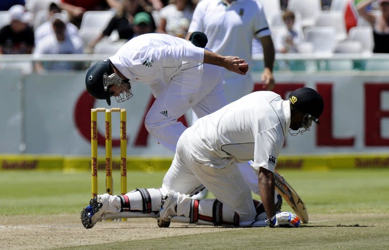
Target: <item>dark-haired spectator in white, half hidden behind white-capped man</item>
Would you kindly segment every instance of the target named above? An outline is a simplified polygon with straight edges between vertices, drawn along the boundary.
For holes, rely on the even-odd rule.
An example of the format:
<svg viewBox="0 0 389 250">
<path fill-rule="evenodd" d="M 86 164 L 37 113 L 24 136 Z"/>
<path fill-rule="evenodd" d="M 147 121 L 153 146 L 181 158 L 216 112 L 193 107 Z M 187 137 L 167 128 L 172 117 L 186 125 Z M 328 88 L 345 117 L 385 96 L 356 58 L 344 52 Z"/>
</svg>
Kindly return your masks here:
<svg viewBox="0 0 389 250">
<path fill-rule="evenodd" d="M 61 8 L 56 3 L 53 2 L 49 5 L 48 20 L 43 24 L 41 24 L 40 26 L 38 26 L 34 31 L 35 44 L 37 44 L 38 41 L 41 40 L 43 37 L 53 34 L 54 32 L 53 24 L 50 21 L 50 18 L 54 14 L 61 13 L 61 11 L 62 11 Z M 67 22 L 66 32 L 71 35 L 78 35 L 79 29 L 77 29 L 77 27 L 74 24 Z"/>
</svg>

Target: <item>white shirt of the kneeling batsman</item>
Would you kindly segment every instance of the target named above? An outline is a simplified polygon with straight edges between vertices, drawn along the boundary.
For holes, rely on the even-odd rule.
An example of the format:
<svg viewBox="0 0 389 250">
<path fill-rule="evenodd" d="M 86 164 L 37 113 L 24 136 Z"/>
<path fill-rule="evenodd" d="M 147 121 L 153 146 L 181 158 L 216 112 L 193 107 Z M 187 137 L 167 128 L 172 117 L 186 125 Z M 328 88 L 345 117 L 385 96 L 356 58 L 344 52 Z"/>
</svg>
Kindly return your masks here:
<svg viewBox="0 0 389 250">
<path fill-rule="evenodd" d="M 185 131 L 195 161 L 216 169 L 254 159 L 274 172 L 290 126 L 290 104 L 271 91 L 256 91 L 197 120 Z"/>
</svg>

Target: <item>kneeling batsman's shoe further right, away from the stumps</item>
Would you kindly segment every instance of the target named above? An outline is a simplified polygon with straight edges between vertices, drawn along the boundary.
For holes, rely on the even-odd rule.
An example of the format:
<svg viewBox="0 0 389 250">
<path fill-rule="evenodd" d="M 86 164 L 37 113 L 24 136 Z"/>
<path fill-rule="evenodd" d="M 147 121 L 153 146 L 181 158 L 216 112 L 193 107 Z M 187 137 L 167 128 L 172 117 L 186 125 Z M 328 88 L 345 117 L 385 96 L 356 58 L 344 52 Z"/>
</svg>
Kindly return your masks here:
<svg viewBox="0 0 389 250">
<path fill-rule="evenodd" d="M 178 193 L 170 190 L 162 200 L 157 217 L 159 227 L 169 227 L 171 219 L 177 215 L 177 198 Z"/>
</svg>

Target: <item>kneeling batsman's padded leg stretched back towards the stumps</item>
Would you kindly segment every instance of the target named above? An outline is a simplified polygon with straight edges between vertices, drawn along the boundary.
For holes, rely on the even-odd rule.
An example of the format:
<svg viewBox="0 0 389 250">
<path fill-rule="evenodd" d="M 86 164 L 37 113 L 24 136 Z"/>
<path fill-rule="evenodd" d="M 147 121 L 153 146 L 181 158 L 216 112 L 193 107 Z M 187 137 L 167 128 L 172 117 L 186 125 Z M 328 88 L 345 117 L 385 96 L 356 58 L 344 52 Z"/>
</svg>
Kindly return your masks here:
<svg viewBox="0 0 389 250">
<path fill-rule="evenodd" d="M 177 152 L 186 145 L 178 141 Z M 162 188 L 137 188 L 125 195 L 107 193 L 92 198 L 90 205 L 81 213 L 86 228 L 93 227 L 102 219 L 157 217 L 162 197 L 171 189 L 182 193 L 196 193 L 204 186 L 176 154 L 172 165 L 165 174 Z"/>
</svg>

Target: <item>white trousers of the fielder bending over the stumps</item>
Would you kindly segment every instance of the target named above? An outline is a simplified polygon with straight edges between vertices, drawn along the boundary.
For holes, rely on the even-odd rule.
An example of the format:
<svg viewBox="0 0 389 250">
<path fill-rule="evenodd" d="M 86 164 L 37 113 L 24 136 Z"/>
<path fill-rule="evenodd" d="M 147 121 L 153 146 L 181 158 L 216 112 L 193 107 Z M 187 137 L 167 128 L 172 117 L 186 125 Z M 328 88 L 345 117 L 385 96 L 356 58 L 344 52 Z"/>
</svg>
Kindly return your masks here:
<svg viewBox="0 0 389 250">
<path fill-rule="evenodd" d="M 145 118 L 147 131 L 162 145 L 175 152 L 178 138 L 186 129 L 177 121 L 179 117 L 190 109 L 198 117 L 203 117 L 227 104 L 223 76 L 222 67 L 201 64 L 174 75 L 163 89 L 151 89 L 157 99 Z"/>
</svg>

